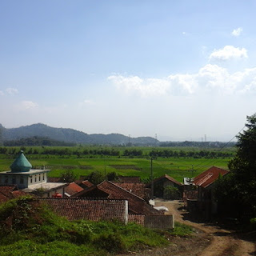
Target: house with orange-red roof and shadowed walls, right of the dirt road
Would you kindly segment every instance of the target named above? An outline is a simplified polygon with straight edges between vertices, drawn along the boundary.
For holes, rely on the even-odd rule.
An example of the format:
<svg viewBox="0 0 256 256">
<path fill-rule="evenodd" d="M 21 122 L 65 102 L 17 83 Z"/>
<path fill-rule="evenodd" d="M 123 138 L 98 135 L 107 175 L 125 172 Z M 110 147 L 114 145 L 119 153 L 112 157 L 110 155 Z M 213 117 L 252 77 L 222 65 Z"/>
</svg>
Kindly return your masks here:
<svg viewBox="0 0 256 256">
<path fill-rule="evenodd" d="M 194 186 L 197 187 L 197 197 L 187 199 L 187 207 L 190 212 L 198 212 L 203 218 L 209 219 L 218 212 L 218 203 L 214 198 L 214 182 L 229 171 L 216 166 L 202 172 L 194 178 Z"/>
</svg>

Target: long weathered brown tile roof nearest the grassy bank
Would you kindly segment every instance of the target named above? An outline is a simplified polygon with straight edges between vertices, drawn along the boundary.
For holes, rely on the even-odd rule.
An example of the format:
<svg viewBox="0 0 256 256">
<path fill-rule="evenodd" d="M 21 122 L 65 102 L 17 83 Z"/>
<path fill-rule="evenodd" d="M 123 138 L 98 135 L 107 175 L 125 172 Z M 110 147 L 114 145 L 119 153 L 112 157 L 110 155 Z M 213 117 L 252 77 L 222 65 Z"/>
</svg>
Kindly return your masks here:
<svg viewBox="0 0 256 256">
<path fill-rule="evenodd" d="M 84 198 L 38 198 L 46 202 L 54 212 L 68 220 L 87 219 L 91 221 L 118 219 L 127 222 L 126 200 L 84 199 Z"/>
</svg>

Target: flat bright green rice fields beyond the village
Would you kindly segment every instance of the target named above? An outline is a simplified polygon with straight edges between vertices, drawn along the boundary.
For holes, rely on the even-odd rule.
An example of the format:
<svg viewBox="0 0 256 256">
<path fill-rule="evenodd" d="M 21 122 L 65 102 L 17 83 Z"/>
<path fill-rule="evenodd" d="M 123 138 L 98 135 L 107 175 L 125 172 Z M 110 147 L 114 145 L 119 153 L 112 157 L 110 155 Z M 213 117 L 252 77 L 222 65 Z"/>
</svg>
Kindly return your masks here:
<svg viewBox="0 0 256 256">
<path fill-rule="evenodd" d="M 138 150 L 138 148 L 136 148 Z M 149 153 L 149 148 L 139 148 Z M 145 150 L 145 151 L 144 151 Z M 174 150 L 174 149 L 171 149 Z M 181 149 L 179 149 L 181 150 Z M 182 148 L 182 150 L 187 150 Z M 190 148 L 188 150 L 191 150 Z M 6 159 L 7 158 L 7 159 Z M 107 156 L 80 156 L 80 158 L 70 155 L 30 155 L 26 154 L 26 158 L 35 167 L 46 166 L 50 169 L 49 177 L 59 177 L 63 170 L 74 170 L 74 173 L 80 175 L 90 174 L 92 171 L 98 170 L 102 174 L 116 172 L 119 175 L 140 176 L 141 178 L 150 177 L 150 159 L 141 158 L 125 158 L 125 157 L 107 157 Z M 0 154 L 0 171 L 10 170 L 10 164 L 14 161 L 14 157 Z M 156 158 L 153 160 L 154 178 L 163 174 L 182 182 L 184 177 L 194 177 L 202 171 L 207 170 L 210 166 L 218 166 L 227 169 L 230 158 Z M 193 170 L 193 171 L 192 171 Z"/>
</svg>

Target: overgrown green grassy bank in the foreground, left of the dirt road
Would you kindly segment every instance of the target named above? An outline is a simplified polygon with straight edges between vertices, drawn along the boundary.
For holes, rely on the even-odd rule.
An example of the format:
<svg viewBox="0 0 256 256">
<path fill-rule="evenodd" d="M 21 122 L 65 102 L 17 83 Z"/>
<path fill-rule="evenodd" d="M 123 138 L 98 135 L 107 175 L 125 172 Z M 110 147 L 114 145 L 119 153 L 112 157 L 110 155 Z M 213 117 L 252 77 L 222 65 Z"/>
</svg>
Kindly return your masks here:
<svg viewBox="0 0 256 256">
<path fill-rule="evenodd" d="M 70 222 L 32 198 L 0 205 L 0 254 L 109 255 L 170 244 L 171 236 L 189 236 L 190 227 L 176 223 L 174 230 L 150 230 L 135 223 Z"/>
</svg>

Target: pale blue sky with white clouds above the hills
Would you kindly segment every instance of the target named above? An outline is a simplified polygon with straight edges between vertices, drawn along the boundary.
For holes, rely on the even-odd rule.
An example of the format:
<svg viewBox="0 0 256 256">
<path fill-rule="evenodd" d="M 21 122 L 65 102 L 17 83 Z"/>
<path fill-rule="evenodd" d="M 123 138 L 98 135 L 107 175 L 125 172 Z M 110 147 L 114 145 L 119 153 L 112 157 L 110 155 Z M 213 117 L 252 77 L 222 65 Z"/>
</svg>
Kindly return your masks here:
<svg viewBox="0 0 256 256">
<path fill-rule="evenodd" d="M 256 106 L 256 2 L 0 0 L 0 123 L 230 141 Z"/>
</svg>

